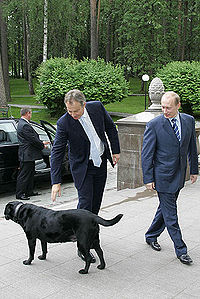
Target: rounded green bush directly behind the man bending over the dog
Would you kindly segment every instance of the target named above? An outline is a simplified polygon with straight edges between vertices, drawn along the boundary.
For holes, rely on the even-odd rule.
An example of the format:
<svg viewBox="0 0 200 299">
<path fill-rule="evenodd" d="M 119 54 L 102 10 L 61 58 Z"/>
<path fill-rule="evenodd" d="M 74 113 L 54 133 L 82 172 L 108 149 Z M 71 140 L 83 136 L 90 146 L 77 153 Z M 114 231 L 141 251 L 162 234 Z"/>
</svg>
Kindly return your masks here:
<svg viewBox="0 0 200 299">
<path fill-rule="evenodd" d="M 103 59 L 80 62 L 72 58 L 49 59 L 36 74 L 41 82 L 36 88 L 37 99 L 48 107 L 51 115 L 63 113 L 64 95 L 74 88 L 81 90 L 87 101 L 98 100 L 104 105 L 128 96 L 123 67 Z"/>
</svg>

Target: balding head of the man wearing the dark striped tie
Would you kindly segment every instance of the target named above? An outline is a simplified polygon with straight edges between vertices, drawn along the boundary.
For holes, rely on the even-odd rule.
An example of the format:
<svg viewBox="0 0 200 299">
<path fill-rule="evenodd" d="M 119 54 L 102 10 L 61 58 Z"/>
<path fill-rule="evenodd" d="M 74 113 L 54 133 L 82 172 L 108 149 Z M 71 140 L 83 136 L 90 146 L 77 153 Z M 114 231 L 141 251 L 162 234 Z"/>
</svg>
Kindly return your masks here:
<svg viewBox="0 0 200 299">
<path fill-rule="evenodd" d="M 167 91 L 161 98 L 161 106 L 163 114 L 166 118 L 175 117 L 178 113 L 178 109 L 181 106 L 180 98 L 177 93 L 173 91 Z"/>
</svg>

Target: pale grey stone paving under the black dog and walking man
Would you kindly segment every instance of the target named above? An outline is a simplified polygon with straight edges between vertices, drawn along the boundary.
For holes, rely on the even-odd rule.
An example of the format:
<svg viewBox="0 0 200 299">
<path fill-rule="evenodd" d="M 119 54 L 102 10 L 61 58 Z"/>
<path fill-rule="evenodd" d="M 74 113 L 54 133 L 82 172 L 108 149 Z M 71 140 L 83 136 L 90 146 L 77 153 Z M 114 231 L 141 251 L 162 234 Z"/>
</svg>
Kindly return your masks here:
<svg viewBox="0 0 200 299">
<path fill-rule="evenodd" d="M 116 191 L 116 170 L 109 169 L 108 183 L 100 215 L 112 218 L 123 213 L 113 227 L 101 227 L 101 244 L 107 263 L 105 270 L 92 264 L 88 275 L 78 270 L 83 262 L 76 255 L 75 243 L 51 244 L 46 261 L 40 261 L 40 244 L 32 265 L 24 266 L 27 241 L 21 227 L 6 221 L 3 209 L 14 195 L 0 197 L 0 298 L 200 298 L 200 178 L 186 183 L 179 198 L 179 222 L 192 266 L 175 257 L 173 244 L 165 231 L 159 238 L 161 252 L 144 242 L 158 200 L 144 187 Z M 54 209 L 75 208 L 77 195 L 73 183 L 63 184 L 63 195 L 55 206 L 50 188 L 43 190 L 36 204 Z M 33 202 L 34 202 L 33 201 Z M 38 202 L 36 202 L 38 201 Z"/>
</svg>

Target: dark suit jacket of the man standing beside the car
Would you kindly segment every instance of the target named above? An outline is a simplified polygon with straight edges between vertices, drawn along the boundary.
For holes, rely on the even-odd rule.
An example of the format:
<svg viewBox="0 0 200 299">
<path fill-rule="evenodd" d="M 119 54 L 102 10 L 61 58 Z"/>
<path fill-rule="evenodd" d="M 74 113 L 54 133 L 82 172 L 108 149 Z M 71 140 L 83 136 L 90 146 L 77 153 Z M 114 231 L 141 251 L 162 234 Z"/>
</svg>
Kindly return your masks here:
<svg viewBox="0 0 200 299">
<path fill-rule="evenodd" d="M 17 137 L 19 141 L 19 160 L 35 161 L 42 158 L 43 142 L 32 126 L 23 118 L 20 118 L 17 126 Z"/>
</svg>

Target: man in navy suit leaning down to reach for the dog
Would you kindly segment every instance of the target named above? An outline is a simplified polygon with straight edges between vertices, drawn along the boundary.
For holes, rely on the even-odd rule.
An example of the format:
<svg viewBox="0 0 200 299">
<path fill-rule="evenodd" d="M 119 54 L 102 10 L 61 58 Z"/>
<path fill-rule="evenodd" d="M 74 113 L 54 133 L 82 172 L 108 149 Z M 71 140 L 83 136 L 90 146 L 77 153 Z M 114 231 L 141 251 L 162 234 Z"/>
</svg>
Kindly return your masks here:
<svg viewBox="0 0 200 299">
<path fill-rule="evenodd" d="M 51 153 L 52 200 L 56 200 L 57 193 L 61 195 L 61 164 L 68 143 L 78 208 L 98 214 L 106 183 L 107 159 L 114 166 L 120 156 L 118 132 L 101 102 L 86 103 L 84 94 L 76 89 L 65 95 L 64 102 L 67 113 L 57 122 Z"/>
</svg>

